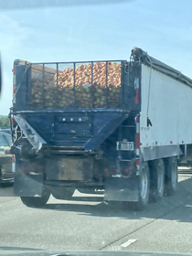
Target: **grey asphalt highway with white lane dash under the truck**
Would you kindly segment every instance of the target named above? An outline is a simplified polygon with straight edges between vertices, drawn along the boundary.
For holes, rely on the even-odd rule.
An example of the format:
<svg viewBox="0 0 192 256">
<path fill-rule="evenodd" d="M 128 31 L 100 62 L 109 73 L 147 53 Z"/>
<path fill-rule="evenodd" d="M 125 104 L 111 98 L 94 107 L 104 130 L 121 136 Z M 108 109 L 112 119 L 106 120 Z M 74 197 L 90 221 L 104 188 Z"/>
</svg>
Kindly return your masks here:
<svg viewBox="0 0 192 256">
<path fill-rule="evenodd" d="M 12 187 L 0 187 L 10 196 L 0 197 L 0 247 L 192 253 L 191 177 L 180 170 L 176 195 L 142 212 L 78 191 L 70 201 L 50 197 L 46 208 L 27 208 Z"/>
</svg>

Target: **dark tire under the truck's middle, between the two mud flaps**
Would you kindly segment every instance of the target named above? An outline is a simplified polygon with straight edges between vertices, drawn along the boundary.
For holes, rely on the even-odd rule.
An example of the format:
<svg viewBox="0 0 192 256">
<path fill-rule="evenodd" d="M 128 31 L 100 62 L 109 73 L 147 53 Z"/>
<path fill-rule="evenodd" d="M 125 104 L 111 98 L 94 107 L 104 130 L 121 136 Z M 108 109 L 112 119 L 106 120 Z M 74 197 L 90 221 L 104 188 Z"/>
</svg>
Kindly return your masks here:
<svg viewBox="0 0 192 256">
<path fill-rule="evenodd" d="M 59 200 L 67 200 L 72 197 L 75 187 L 54 187 L 51 190 L 52 196 Z"/>
</svg>

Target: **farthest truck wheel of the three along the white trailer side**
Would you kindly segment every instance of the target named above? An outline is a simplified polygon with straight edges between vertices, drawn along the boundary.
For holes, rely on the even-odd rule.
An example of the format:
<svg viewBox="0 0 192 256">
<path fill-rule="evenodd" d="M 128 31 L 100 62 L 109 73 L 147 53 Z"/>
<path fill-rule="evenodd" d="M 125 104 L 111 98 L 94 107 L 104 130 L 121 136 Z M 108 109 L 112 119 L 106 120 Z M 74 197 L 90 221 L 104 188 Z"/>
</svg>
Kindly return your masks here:
<svg viewBox="0 0 192 256">
<path fill-rule="evenodd" d="M 176 157 L 165 159 L 165 195 L 172 196 L 178 183 L 178 166 Z"/>
</svg>

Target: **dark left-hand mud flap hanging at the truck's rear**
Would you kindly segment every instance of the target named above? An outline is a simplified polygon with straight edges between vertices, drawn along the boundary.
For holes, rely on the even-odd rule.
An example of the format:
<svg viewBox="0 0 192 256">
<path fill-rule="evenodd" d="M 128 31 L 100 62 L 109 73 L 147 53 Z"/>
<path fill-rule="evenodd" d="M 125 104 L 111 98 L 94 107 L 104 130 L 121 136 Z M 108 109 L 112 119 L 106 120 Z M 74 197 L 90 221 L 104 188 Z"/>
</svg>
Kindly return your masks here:
<svg viewBox="0 0 192 256">
<path fill-rule="evenodd" d="M 27 175 L 16 172 L 14 195 L 17 197 L 40 197 L 43 191 L 43 175 Z"/>
</svg>

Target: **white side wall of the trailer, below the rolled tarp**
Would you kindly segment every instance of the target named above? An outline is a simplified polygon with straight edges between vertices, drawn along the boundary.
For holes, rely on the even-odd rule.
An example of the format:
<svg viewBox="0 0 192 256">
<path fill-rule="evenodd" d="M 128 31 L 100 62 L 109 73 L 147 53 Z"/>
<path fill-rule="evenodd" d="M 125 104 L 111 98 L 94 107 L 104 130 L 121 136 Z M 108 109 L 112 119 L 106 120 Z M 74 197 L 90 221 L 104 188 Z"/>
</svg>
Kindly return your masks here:
<svg viewBox="0 0 192 256">
<path fill-rule="evenodd" d="M 142 64 L 141 90 L 141 147 L 192 144 L 192 88 Z"/>
</svg>

